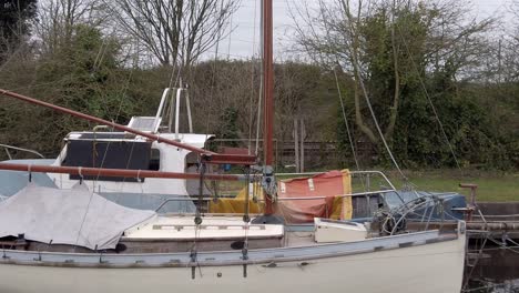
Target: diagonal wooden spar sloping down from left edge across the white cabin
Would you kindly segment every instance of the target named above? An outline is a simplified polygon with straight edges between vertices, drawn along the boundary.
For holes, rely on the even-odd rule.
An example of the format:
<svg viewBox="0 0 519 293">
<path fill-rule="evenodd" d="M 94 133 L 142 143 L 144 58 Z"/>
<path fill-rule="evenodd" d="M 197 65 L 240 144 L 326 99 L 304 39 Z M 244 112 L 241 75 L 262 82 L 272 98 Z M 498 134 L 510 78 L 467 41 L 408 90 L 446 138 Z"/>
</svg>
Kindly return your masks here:
<svg viewBox="0 0 519 293">
<path fill-rule="evenodd" d="M 92 122 L 95 122 L 95 123 L 104 124 L 104 125 L 114 128 L 114 129 L 120 130 L 120 131 L 126 131 L 126 132 L 133 133 L 135 135 L 141 135 L 143 138 L 146 138 L 146 139 L 150 139 L 150 140 L 153 140 L 153 141 L 163 142 L 165 144 L 170 144 L 170 145 L 173 145 L 173 146 L 176 146 L 176 148 L 180 148 L 180 149 L 192 151 L 192 152 L 195 152 L 195 153 L 199 153 L 199 154 L 203 155 L 207 161 L 211 161 L 211 163 L 230 163 L 230 164 L 245 164 L 245 165 L 252 165 L 252 164 L 256 163 L 256 158 L 254 155 L 232 155 L 232 154 L 223 155 L 223 154 L 217 154 L 217 153 L 214 153 L 214 152 L 211 152 L 211 151 L 207 151 L 207 150 L 204 150 L 204 149 L 200 149 L 200 148 L 196 148 L 196 146 L 193 146 L 193 145 L 190 145 L 190 144 L 177 142 L 177 141 L 174 141 L 174 140 L 164 139 L 164 138 L 161 138 L 160 135 L 156 135 L 156 134 L 139 131 L 139 130 L 135 130 L 135 129 L 132 129 L 132 128 L 129 128 L 129 127 L 124 127 L 124 125 L 121 125 L 121 124 L 118 124 L 118 123 L 114 123 L 114 122 L 111 122 L 111 121 L 108 121 L 108 120 L 103 120 L 101 118 L 88 115 L 88 114 L 84 114 L 84 113 L 81 113 L 81 112 L 78 112 L 78 111 L 74 111 L 74 110 L 71 110 L 71 109 L 67 109 L 67 108 L 63 108 L 63 107 L 59 107 L 59 105 L 55 105 L 55 104 L 43 102 L 43 101 L 32 99 L 32 98 L 29 98 L 29 97 L 26 97 L 26 95 L 22 95 L 22 94 L 19 94 L 19 93 L 14 93 L 14 92 L 10 92 L 10 91 L 0 89 L 0 94 L 11 97 L 11 98 L 14 98 L 14 99 L 18 99 L 18 100 L 22 100 L 22 101 L 26 101 L 26 102 L 29 102 L 29 103 L 32 103 L 32 104 L 38 104 L 38 105 L 41 105 L 41 107 L 50 108 L 50 109 L 55 110 L 58 112 L 70 114 L 70 115 L 73 115 L 73 117 L 77 117 L 77 118 L 80 118 L 80 119 L 84 119 L 84 120 L 88 120 L 88 121 L 92 121 Z"/>
</svg>

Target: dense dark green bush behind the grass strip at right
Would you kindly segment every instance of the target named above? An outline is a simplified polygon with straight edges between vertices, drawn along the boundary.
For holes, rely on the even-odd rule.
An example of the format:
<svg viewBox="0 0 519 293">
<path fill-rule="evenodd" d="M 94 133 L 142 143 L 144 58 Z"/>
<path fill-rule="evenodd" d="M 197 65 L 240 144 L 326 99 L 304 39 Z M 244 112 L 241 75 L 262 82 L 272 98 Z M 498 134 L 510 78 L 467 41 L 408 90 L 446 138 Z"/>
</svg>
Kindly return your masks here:
<svg viewBox="0 0 519 293">
<path fill-rule="evenodd" d="M 425 97 L 405 100 L 394 144 L 397 158 L 405 165 L 454 168 L 450 143 L 461 166 L 506 166 L 498 138 L 480 105 L 467 98 L 448 99 L 445 94 L 436 97 L 434 103 L 449 142 Z"/>
</svg>

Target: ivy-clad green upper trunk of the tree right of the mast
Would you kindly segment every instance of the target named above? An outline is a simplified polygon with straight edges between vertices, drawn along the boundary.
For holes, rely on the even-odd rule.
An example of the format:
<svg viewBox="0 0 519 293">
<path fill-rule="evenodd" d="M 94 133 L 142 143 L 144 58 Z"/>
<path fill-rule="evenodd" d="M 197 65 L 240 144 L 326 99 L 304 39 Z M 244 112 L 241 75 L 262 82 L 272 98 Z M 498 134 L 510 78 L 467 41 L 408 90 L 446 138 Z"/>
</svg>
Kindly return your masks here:
<svg viewBox="0 0 519 293">
<path fill-rule="evenodd" d="M 424 49 L 428 33 L 424 12 L 400 8 L 391 19 L 390 11 L 379 8 L 360 24 L 360 62 L 367 68 L 369 78 L 366 87 L 381 125 L 389 123 L 396 87 L 399 90 L 397 99 L 406 99 L 421 90 L 418 84 L 425 72 L 421 60 L 426 53 Z M 398 81 L 395 72 L 398 73 Z M 365 113 L 369 117 L 367 111 Z"/>
</svg>

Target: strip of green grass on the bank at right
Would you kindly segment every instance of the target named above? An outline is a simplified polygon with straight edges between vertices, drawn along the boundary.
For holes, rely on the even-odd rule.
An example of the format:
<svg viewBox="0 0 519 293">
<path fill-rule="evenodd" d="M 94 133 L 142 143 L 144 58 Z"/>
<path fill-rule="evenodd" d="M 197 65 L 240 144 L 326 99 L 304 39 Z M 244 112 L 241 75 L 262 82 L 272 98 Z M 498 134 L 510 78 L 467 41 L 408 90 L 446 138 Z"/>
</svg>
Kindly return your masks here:
<svg viewBox="0 0 519 293">
<path fill-rule="evenodd" d="M 496 173 L 481 171 L 410 171 L 405 172 L 417 190 L 450 191 L 469 195 L 470 190 L 459 188 L 459 183 L 478 185 L 477 201 L 519 201 L 519 173 Z M 390 176 L 396 179 L 396 173 Z"/>
</svg>

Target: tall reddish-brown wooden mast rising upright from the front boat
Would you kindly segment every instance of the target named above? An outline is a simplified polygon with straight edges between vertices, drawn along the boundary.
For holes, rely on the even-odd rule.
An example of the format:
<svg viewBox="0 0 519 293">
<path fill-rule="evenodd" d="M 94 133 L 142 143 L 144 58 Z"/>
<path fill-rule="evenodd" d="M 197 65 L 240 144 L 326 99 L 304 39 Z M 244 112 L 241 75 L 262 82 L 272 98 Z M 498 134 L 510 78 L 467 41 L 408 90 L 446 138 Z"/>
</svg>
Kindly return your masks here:
<svg viewBox="0 0 519 293">
<path fill-rule="evenodd" d="M 263 155 L 264 165 L 274 163 L 273 137 L 274 137 L 274 58 L 273 58 L 273 16 L 272 0 L 263 0 L 263 100 L 264 100 L 264 128 L 263 128 Z M 265 214 L 273 213 L 272 199 L 265 196 Z"/>
</svg>

